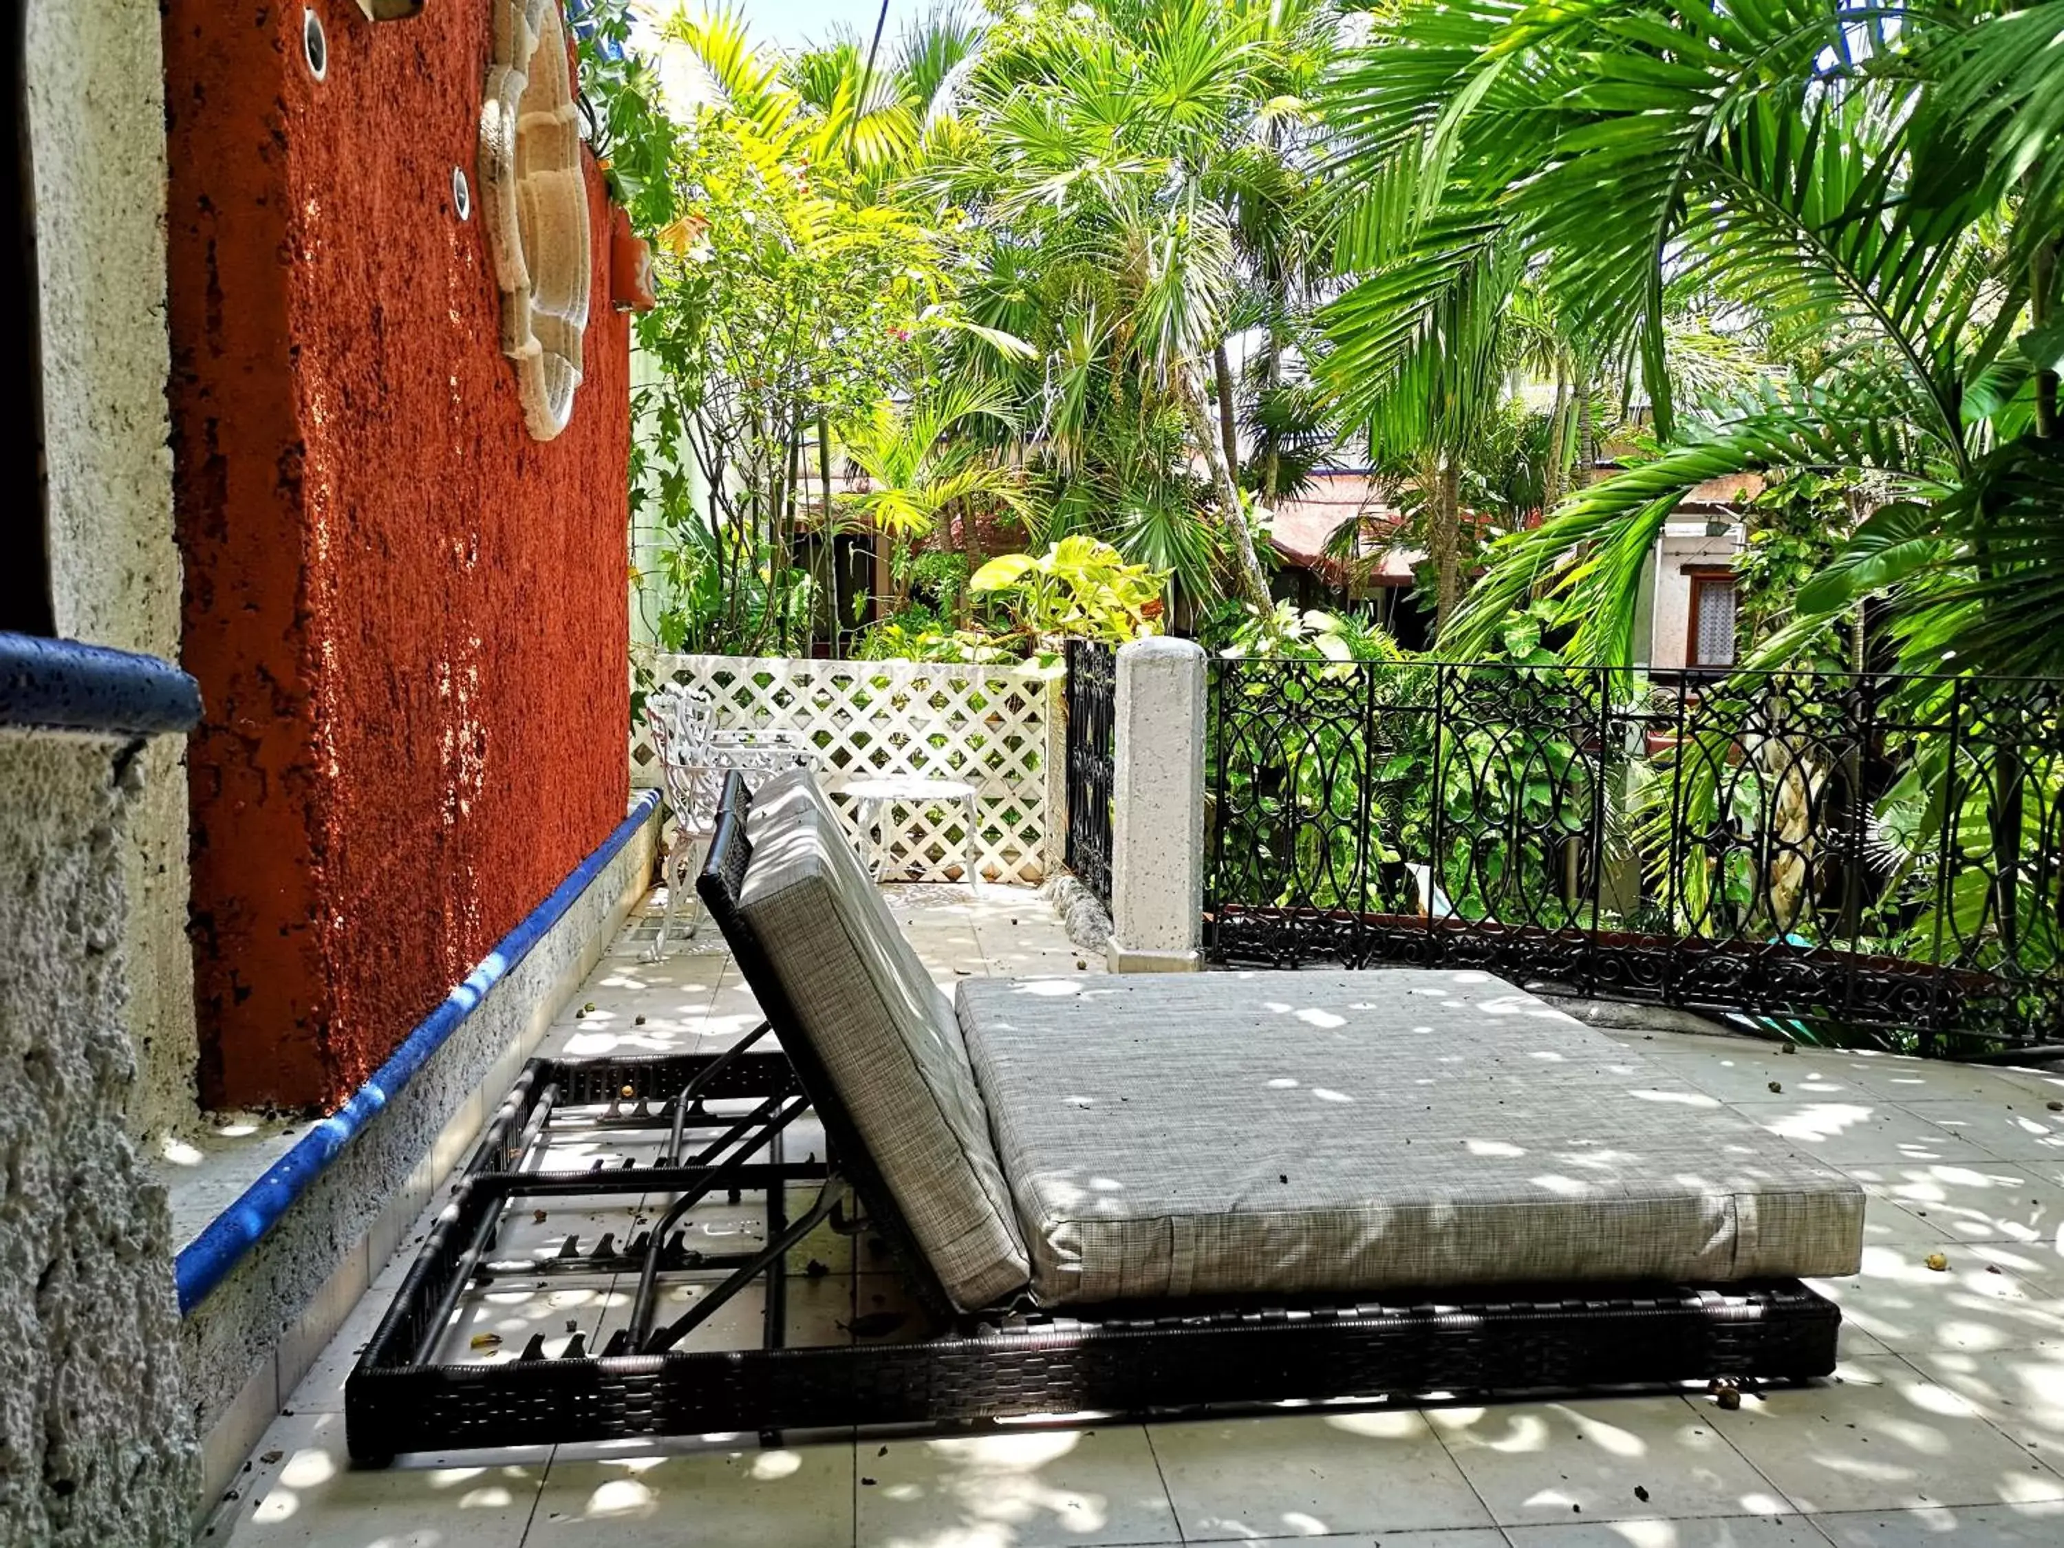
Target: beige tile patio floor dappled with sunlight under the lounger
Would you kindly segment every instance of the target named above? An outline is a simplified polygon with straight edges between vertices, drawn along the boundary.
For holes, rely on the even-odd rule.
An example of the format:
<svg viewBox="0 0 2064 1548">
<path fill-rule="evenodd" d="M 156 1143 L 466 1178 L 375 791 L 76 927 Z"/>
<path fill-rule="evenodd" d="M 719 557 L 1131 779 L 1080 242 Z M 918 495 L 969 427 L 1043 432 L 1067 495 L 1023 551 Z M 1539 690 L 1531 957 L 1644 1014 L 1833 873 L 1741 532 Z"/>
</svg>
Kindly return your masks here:
<svg viewBox="0 0 2064 1548">
<path fill-rule="evenodd" d="M 1044 904 L 985 888 L 894 888 L 941 985 L 1094 972 Z M 757 1020 L 706 931 L 665 964 L 634 921 L 568 1005 L 549 1053 L 714 1051 Z M 576 1009 L 592 1003 L 592 1011 Z M 644 1018 L 642 1022 L 638 1018 Z M 1084 1424 L 972 1439 L 749 1437 L 345 1459 L 343 1383 L 413 1245 L 252 1453 L 202 1542 L 237 1548 L 2004 1548 L 2064 1544 L 2064 1073 L 1781 1053 L 1732 1038 L 1614 1034 L 1649 1059 L 1649 1100 L 1730 1104 L 1827 1156 L 1870 1193 L 1860 1273 L 1823 1385 L 1721 1412 L 1703 1391 L 1304 1408 L 1269 1418 Z M 1631 1071 L 1633 1075 L 1635 1071 Z M 807 1146 L 807 1131 L 799 1131 Z M 753 1230 L 712 1210 L 696 1230 Z M 559 1222 L 561 1228 L 568 1222 Z M 419 1236 L 419 1232 L 413 1232 Z M 514 1238 L 512 1238 L 514 1240 Z M 828 1261 L 842 1243 L 809 1243 Z M 803 1249 L 799 1249 L 803 1251 Z M 1946 1269 L 1930 1269 L 1942 1253 Z M 842 1269 L 844 1261 L 832 1261 Z M 555 1282 L 479 1315 L 518 1331 L 607 1329 L 623 1294 Z M 797 1282 L 793 1325 L 842 1335 L 894 1309 L 892 1276 Z M 706 1335 L 749 1337 L 755 1307 Z M 454 1335 L 454 1346 L 460 1344 Z M 464 1358 L 464 1356 L 458 1356 Z"/>
</svg>

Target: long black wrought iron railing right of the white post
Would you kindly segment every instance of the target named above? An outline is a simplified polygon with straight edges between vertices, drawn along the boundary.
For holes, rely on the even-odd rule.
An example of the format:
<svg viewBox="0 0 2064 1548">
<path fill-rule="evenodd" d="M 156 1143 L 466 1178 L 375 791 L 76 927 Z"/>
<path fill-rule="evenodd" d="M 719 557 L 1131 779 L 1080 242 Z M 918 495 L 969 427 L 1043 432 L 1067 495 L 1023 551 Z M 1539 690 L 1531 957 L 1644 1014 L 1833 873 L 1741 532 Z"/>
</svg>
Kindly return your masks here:
<svg viewBox="0 0 2064 1548">
<path fill-rule="evenodd" d="M 1210 671 L 1216 962 L 2064 1042 L 2064 683 Z"/>
</svg>

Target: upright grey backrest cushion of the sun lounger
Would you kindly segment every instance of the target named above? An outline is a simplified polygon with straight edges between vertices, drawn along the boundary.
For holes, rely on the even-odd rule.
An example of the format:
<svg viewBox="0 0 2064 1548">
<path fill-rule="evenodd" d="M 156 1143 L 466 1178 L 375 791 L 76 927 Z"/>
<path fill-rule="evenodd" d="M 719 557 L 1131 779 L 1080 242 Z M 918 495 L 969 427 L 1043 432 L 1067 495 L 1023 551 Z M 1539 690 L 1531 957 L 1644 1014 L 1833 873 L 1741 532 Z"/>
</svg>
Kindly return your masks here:
<svg viewBox="0 0 2064 1548">
<path fill-rule="evenodd" d="M 766 780 L 739 912 L 956 1307 L 1024 1288 L 1026 1247 L 954 1007 L 809 770 Z"/>
</svg>

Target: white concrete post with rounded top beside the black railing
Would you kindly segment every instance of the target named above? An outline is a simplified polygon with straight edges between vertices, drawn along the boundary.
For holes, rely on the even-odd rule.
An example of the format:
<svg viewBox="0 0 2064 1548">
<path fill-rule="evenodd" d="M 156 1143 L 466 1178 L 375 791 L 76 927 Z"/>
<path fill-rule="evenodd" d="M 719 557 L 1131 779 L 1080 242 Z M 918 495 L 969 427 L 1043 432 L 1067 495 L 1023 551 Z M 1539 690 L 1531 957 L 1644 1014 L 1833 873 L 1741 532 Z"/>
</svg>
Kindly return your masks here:
<svg viewBox="0 0 2064 1548">
<path fill-rule="evenodd" d="M 1119 648 L 1110 813 L 1112 972 L 1195 972 L 1203 943 L 1203 650 Z"/>
</svg>

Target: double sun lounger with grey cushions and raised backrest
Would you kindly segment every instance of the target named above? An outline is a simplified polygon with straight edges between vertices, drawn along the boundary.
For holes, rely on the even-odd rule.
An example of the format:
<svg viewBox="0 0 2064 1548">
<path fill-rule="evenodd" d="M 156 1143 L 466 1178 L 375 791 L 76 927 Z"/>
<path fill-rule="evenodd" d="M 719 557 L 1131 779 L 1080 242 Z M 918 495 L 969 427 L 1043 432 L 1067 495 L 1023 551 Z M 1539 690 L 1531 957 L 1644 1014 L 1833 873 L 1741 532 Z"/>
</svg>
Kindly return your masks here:
<svg viewBox="0 0 2064 1548">
<path fill-rule="evenodd" d="M 700 892 L 780 1055 L 526 1071 L 351 1379 L 353 1455 L 1835 1364 L 1839 1315 L 1798 1276 L 1856 1269 L 1858 1187 L 1488 974 L 964 980 L 949 1001 L 807 776 L 757 801 L 727 782 Z M 594 1187 L 522 1174 L 516 1137 L 619 1079 L 675 1125 L 644 1197 L 764 1187 L 766 1251 L 654 1325 L 669 1216 L 619 1265 L 638 1304 L 603 1350 L 431 1362 L 499 1212 Z M 762 1100 L 689 1160 L 712 1092 Z M 791 1222 L 778 1135 L 805 1102 L 830 1158 Z M 933 1313 L 921 1337 L 780 1348 L 770 1315 L 764 1348 L 679 1348 L 755 1278 L 778 1304 L 788 1249 L 854 1199 Z"/>
</svg>

